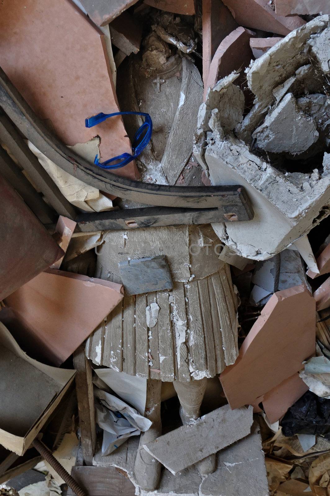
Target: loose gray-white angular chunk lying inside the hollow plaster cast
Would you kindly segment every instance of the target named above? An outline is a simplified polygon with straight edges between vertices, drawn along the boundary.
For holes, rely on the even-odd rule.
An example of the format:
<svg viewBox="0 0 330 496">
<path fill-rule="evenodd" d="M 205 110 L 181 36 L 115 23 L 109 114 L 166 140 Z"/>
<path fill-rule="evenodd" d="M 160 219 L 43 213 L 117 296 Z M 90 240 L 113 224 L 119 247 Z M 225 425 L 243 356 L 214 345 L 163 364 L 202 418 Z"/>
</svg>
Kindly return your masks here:
<svg viewBox="0 0 330 496">
<path fill-rule="evenodd" d="M 293 155 L 302 153 L 319 138 L 316 125 L 300 111 L 292 93 L 288 93 L 252 134 L 262 150 Z"/>
</svg>

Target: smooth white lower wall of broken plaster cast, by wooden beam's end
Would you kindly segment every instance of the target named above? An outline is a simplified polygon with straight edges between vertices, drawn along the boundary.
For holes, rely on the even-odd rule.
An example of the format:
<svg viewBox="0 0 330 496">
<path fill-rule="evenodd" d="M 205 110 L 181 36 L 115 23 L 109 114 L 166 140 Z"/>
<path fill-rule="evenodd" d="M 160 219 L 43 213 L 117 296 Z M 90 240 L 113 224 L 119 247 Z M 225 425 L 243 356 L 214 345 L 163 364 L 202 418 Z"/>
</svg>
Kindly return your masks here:
<svg viewBox="0 0 330 496">
<path fill-rule="evenodd" d="M 240 256 L 265 260 L 294 243 L 329 214 L 330 178 L 306 175 L 310 190 L 302 190 L 269 164 L 253 155 L 244 142 L 228 136 L 205 152 L 214 185 L 240 184 L 254 210 L 249 222 L 212 224 L 218 237 Z"/>
</svg>

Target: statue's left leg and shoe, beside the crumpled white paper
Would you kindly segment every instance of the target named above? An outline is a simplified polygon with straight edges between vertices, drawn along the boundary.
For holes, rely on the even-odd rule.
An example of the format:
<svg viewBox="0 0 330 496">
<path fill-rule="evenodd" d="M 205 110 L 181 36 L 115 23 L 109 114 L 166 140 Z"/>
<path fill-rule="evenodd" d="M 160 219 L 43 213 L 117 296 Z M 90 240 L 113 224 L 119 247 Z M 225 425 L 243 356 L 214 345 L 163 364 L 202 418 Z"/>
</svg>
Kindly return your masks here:
<svg viewBox="0 0 330 496">
<path fill-rule="evenodd" d="M 145 417 L 151 420 L 153 425 L 147 432 L 141 433 L 134 465 L 136 481 L 145 491 L 157 489 L 161 477 L 160 462 L 143 448 L 144 444 L 162 435 L 161 393 L 162 381 L 148 379 Z"/>
</svg>

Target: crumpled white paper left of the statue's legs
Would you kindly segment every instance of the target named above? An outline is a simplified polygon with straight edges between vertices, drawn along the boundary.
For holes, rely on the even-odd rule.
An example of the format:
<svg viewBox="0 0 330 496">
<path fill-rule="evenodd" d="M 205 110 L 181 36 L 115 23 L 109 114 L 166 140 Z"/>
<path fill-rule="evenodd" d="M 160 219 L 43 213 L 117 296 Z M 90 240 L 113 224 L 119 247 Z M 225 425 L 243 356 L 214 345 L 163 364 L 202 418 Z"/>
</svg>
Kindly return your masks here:
<svg viewBox="0 0 330 496">
<path fill-rule="evenodd" d="M 109 455 L 132 435 L 148 431 L 152 422 L 116 396 L 94 386 L 96 423 L 103 429 L 101 453 Z"/>
</svg>

